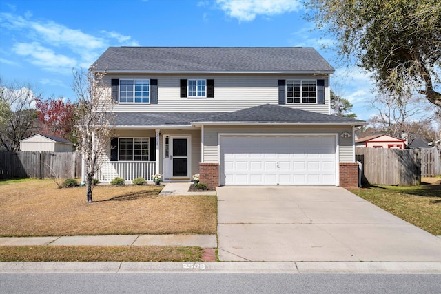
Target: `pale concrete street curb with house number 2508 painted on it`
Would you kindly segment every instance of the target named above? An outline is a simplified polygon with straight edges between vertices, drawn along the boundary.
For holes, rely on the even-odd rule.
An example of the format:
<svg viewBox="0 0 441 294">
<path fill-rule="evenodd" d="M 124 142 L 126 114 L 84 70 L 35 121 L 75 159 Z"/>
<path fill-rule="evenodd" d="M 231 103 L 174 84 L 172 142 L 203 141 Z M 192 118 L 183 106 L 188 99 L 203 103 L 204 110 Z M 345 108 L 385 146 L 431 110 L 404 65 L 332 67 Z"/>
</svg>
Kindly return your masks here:
<svg viewBox="0 0 441 294">
<path fill-rule="evenodd" d="M 0 262 L 0 273 L 441 274 L 441 262 Z"/>
</svg>

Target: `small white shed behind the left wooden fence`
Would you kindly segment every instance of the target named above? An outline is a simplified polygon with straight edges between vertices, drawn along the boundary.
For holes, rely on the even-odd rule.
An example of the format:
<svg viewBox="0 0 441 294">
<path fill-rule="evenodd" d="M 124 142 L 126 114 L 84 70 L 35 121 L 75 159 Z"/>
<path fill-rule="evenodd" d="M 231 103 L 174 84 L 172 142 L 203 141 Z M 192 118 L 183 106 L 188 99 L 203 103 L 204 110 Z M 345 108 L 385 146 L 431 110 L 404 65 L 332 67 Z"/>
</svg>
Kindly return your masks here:
<svg viewBox="0 0 441 294">
<path fill-rule="evenodd" d="M 20 140 L 21 151 L 72 152 L 74 143 L 57 136 L 35 134 Z"/>
</svg>

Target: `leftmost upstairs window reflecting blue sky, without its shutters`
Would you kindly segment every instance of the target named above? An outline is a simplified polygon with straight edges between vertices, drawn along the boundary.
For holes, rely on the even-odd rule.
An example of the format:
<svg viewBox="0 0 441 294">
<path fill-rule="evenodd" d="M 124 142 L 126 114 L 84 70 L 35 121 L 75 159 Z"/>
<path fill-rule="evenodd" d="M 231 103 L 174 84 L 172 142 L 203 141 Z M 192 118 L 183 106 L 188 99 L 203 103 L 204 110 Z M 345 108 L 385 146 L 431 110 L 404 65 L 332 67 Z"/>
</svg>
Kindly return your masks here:
<svg viewBox="0 0 441 294">
<path fill-rule="evenodd" d="M 150 80 L 119 80 L 120 103 L 150 103 Z"/>
</svg>

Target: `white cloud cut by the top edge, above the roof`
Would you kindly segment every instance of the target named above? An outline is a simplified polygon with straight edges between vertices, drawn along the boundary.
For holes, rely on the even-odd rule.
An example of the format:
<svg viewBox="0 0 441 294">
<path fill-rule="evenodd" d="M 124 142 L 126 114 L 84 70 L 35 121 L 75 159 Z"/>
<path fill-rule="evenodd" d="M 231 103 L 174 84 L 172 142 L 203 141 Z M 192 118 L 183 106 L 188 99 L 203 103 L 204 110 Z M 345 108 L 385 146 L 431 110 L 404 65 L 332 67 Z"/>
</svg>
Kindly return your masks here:
<svg viewBox="0 0 441 294">
<path fill-rule="evenodd" d="M 302 5 L 297 0 L 216 0 L 220 9 L 239 21 L 252 21 L 257 15 L 265 17 L 298 11 Z"/>
</svg>

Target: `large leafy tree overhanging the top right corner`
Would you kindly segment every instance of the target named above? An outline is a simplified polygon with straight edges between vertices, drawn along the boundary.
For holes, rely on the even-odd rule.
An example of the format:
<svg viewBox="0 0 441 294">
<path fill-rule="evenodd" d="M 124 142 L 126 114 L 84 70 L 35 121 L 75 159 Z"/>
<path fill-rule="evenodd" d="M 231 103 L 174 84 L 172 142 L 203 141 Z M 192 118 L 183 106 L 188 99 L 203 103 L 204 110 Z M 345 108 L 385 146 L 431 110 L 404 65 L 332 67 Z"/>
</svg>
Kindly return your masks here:
<svg viewBox="0 0 441 294">
<path fill-rule="evenodd" d="M 441 107 L 441 1 L 307 0 L 307 19 L 336 37 L 340 56 L 391 94 L 420 90 Z M 422 87 L 422 89 L 420 89 Z"/>
</svg>

